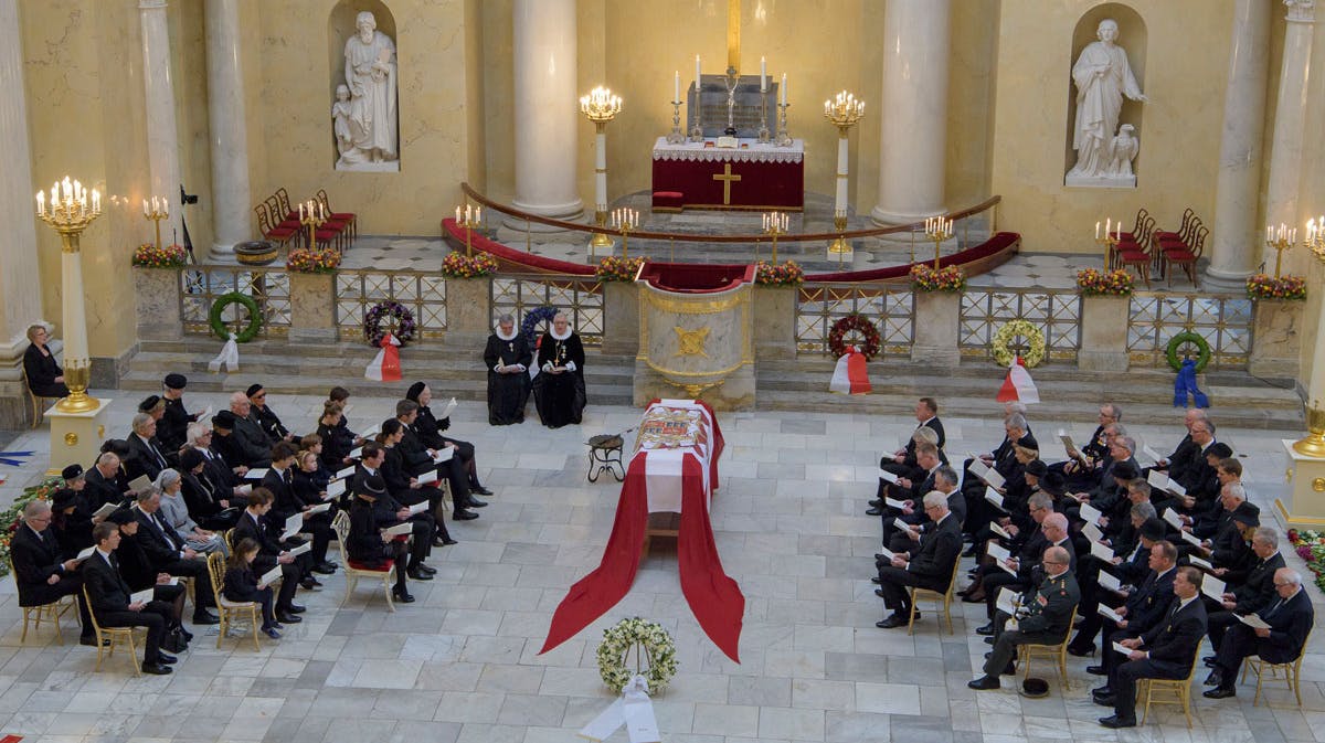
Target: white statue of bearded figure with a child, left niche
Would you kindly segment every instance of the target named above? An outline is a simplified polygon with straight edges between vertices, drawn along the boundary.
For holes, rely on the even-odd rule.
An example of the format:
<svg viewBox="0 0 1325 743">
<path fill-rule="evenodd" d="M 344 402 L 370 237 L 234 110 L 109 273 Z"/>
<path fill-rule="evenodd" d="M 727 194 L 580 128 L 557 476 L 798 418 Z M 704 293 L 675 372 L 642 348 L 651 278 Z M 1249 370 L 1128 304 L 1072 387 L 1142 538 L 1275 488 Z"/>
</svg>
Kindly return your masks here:
<svg viewBox="0 0 1325 743">
<path fill-rule="evenodd" d="M 399 171 L 396 150 L 396 45 L 378 30 L 372 13 L 355 17 L 358 33 L 344 42 L 344 87 L 348 106 L 342 122 L 339 89 L 333 106 L 338 171 Z M 347 136 L 342 139 L 341 123 Z"/>
</svg>

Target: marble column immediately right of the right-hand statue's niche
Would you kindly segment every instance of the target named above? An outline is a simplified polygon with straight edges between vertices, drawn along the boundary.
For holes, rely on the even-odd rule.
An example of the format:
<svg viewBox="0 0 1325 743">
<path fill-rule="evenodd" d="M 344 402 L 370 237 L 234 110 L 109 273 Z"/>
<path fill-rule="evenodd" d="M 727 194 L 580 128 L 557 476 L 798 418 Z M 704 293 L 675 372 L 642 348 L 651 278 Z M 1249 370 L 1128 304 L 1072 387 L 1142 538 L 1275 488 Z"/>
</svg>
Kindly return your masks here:
<svg viewBox="0 0 1325 743">
<path fill-rule="evenodd" d="M 1260 258 L 1256 211 L 1261 134 L 1269 79 L 1269 0 L 1235 0 L 1224 91 L 1224 132 L 1215 185 L 1215 228 L 1208 283 L 1242 289 Z"/>
</svg>

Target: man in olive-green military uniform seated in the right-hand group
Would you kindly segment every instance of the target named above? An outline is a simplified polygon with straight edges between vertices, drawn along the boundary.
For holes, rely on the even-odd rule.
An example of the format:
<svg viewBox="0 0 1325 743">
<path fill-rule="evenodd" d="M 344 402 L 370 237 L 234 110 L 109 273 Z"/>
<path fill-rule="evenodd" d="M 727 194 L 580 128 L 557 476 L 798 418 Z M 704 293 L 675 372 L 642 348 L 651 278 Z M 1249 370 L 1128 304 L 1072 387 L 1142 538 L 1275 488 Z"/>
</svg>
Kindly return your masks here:
<svg viewBox="0 0 1325 743">
<path fill-rule="evenodd" d="M 1069 563 L 1068 551 L 1063 547 L 1055 546 L 1044 551 L 1044 579 L 1018 612 L 1020 619 L 1002 611 L 994 617 L 994 625 L 1002 629 L 995 633 L 994 650 L 984 660 L 984 675 L 967 686 L 978 691 L 998 689 L 998 677 L 1012 673 L 1018 645 L 1063 642 L 1072 630 L 1072 612 L 1081 600 L 1076 576 L 1068 570 Z"/>
</svg>

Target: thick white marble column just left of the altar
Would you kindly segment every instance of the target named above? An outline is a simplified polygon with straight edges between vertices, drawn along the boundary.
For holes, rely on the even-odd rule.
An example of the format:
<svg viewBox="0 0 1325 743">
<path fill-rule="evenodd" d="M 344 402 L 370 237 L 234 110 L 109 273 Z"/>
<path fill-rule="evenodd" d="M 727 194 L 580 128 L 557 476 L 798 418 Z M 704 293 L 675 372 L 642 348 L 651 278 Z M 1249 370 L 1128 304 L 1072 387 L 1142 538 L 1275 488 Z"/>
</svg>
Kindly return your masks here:
<svg viewBox="0 0 1325 743">
<path fill-rule="evenodd" d="M 578 219 L 584 204 L 575 176 L 580 126 L 575 0 L 514 0 L 511 15 L 515 26 L 513 204 L 535 215 Z"/>
</svg>

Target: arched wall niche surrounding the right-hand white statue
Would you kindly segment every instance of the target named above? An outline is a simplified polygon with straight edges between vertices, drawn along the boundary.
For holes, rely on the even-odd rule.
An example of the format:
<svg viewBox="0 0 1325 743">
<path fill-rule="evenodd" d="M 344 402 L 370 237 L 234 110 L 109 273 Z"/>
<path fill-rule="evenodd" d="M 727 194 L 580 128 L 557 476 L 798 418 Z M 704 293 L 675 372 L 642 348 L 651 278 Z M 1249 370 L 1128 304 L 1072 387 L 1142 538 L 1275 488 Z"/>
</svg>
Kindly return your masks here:
<svg viewBox="0 0 1325 743">
<path fill-rule="evenodd" d="M 1097 41 L 1097 30 L 1100 21 L 1105 19 L 1112 19 L 1118 24 L 1118 38 L 1116 44 L 1126 50 L 1128 64 L 1132 66 L 1132 75 L 1137 79 L 1137 85 L 1141 91 L 1146 90 L 1146 49 L 1147 49 L 1147 36 L 1146 36 L 1146 23 L 1142 20 L 1141 13 L 1133 9 L 1130 5 L 1122 3 L 1101 3 L 1089 11 L 1086 11 L 1072 29 L 1072 57 L 1065 70 L 1064 81 L 1068 86 L 1068 109 L 1065 117 L 1065 136 L 1063 146 L 1063 172 L 1067 173 L 1077 162 L 1077 152 L 1072 148 L 1072 139 L 1076 134 L 1076 118 L 1077 118 L 1077 87 L 1072 81 L 1072 65 L 1076 65 L 1077 58 L 1081 57 L 1081 52 Z M 1145 106 L 1141 102 L 1132 101 L 1126 97 L 1122 98 L 1122 109 L 1118 111 L 1118 126 L 1125 123 L 1132 124 L 1136 128 L 1136 136 L 1141 140 L 1142 151 L 1145 150 L 1145 130 L 1142 128 L 1142 115 Z M 1113 134 L 1117 134 L 1114 130 Z M 1141 154 L 1132 163 L 1133 172 L 1140 177 L 1141 167 Z"/>
</svg>

